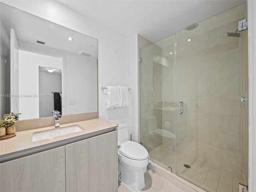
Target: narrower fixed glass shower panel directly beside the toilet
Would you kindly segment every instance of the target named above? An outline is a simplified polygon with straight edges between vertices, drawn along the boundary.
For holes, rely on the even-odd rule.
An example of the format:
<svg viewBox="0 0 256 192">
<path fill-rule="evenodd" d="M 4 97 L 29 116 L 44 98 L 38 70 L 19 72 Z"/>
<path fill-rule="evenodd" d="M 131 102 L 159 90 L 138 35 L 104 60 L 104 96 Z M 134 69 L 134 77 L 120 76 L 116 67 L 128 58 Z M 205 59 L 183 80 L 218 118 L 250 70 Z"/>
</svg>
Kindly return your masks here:
<svg viewBox="0 0 256 192">
<path fill-rule="evenodd" d="M 140 142 L 175 172 L 175 35 L 140 49 Z"/>
</svg>

